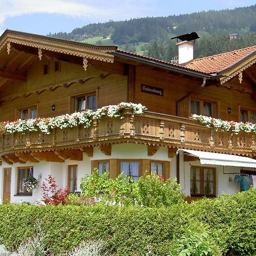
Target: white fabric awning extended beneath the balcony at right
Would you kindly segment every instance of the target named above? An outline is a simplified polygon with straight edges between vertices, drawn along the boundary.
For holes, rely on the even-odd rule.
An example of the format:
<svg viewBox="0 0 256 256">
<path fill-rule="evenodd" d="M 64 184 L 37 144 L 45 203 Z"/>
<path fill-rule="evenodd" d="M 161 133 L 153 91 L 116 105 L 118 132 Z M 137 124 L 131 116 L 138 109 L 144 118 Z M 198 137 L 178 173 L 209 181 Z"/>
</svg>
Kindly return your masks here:
<svg viewBox="0 0 256 256">
<path fill-rule="evenodd" d="M 196 156 L 200 159 L 201 164 L 210 164 L 214 166 L 236 166 L 236 167 L 251 167 L 256 168 L 256 160 L 245 156 L 220 154 L 213 152 L 204 152 L 197 150 L 179 149 L 177 154 L 184 152 L 191 156 Z"/>
</svg>

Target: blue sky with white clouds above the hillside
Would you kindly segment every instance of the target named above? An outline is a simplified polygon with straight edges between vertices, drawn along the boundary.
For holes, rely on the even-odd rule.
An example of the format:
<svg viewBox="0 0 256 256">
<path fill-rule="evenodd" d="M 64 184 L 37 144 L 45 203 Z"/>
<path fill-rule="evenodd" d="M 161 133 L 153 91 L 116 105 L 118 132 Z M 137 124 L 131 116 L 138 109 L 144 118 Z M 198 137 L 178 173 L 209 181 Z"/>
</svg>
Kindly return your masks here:
<svg viewBox="0 0 256 256">
<path fill-rule="evenodd" d="M 0 0 L 0 35 L 6 28 L 47 35 L 90 23 L 197 11 L 234 9 L 255 0 Z"/>
</svg>

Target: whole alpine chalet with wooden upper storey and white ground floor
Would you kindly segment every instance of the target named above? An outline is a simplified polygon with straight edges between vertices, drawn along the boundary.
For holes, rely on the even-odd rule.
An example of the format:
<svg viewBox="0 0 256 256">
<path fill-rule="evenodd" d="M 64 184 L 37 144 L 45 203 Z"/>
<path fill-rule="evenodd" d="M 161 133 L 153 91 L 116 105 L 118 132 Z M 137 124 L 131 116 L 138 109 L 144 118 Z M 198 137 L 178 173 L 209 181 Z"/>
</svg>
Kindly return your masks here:
<svg viewBox="0 0 256 256">
<path fill-rule="evenodd" d="M 191 199 L 240 191 L 234 176 L 254 174 L 255 133 L 216 131 L 189 117 L 255 123 L 255 63 L 256 46 L 172 64 L 115 46 L 6 30 L 0 37 L 0 121 L 119 102 L 147 110 L 94 118 L 88 128 L 1 134 L 0 201 L 39 200 L 40 189 L 22 186 L 31 173 L 41 182 L 51 174 L 59 187 L 79 191 L 81 177 L 94 167 L 134 180 L 146 170 L 177 177 Z M 203 163 L 205 152 L 211 154 Z"/>
</svg>

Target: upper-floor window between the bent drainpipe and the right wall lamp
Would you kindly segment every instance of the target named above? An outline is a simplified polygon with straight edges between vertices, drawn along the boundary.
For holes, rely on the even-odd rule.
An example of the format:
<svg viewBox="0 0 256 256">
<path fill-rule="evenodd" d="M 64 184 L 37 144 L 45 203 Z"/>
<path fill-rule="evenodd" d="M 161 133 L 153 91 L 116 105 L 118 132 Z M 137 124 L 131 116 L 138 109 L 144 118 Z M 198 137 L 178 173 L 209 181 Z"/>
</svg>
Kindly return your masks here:
<svg viewBox="0 0 256 256">
<path fill-rule="evenodd" d="M 208 101 L 190 101 L 190 113 L 214 117 L 214 103 Z"/>
</svg>

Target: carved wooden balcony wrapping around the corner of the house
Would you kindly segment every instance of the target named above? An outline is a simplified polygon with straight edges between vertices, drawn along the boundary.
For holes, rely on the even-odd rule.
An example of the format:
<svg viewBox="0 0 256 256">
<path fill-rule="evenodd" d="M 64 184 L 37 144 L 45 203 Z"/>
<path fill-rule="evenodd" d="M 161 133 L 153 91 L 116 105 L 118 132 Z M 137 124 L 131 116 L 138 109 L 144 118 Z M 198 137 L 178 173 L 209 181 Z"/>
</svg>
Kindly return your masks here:
<svg viewBox="0 0 256 256">
<path fill-rule="evenodd" d="M 51 134 L 28 131 L 24 134 L 3 134 L 0 137 L 2 159 L 9 163 L 38 162 L 39 160 L 82 159 L 82 152 L 93 154 L 93 146 L 111 154 L 111 144 L 143 143 L 148 145 L 148 155 L 160 146 L 188 148 L 210 152 L 225 152 L 255 156 L 255 134 L 214 131 L 188 118 L 146 112 L 133 117 L 131 110 L 123 110 L 123 118 L 93 119 L 89 128 L 82 125 L 53 129 Z"/>
</svg>

